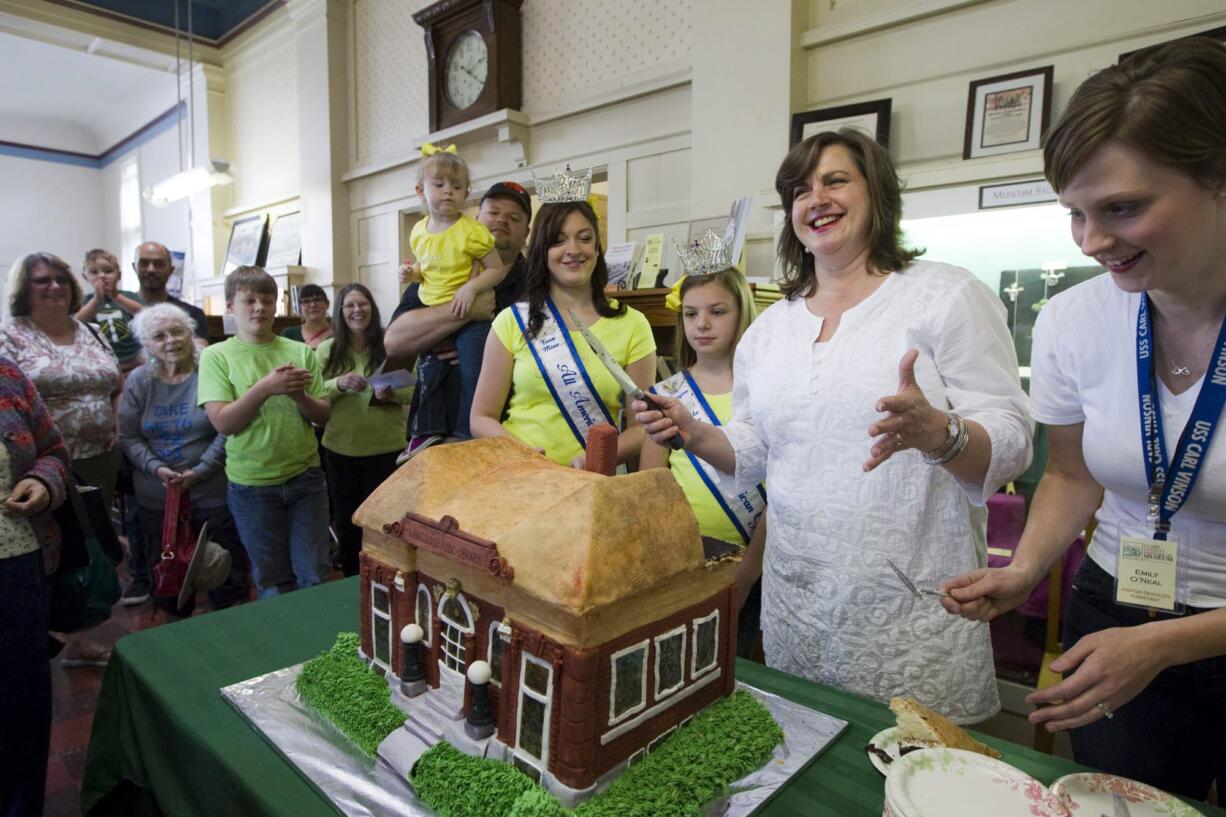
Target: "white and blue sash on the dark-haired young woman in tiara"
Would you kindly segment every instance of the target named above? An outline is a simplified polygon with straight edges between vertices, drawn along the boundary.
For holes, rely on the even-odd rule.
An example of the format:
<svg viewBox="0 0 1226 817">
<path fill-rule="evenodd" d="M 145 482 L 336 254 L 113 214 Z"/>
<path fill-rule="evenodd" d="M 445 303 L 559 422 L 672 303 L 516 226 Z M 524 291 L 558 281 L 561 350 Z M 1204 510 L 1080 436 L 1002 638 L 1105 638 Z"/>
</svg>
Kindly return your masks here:
<svg viewBox="0 0 1226 817">
<path fill-rule="evenodd" d="M 587 377 L 584 361 L 579 357 L 566 324 L 558 314 L 558 308 L 553 305 L 553 299 L 547 297 L 544 305 L 544 323 L 541 324 L 541 331 L 535 339 L 528 337 L 528 304 L 512 304 L 511 312 L 520 325 L 520 331 L 524 332 L 524 340 L 528 342 L 532 359 L 544 377 L 544 384 L 549 386 L 553 401 L 558 404 L 562 416 L 566 418 L 566 424 L 582 447 L 587 444 L 588 428 L 597 423 L 608 423 L 615 428 L 617 423 L 604 407 L 600 393 L 592 385 L 592 379 Z"/>
</svg>

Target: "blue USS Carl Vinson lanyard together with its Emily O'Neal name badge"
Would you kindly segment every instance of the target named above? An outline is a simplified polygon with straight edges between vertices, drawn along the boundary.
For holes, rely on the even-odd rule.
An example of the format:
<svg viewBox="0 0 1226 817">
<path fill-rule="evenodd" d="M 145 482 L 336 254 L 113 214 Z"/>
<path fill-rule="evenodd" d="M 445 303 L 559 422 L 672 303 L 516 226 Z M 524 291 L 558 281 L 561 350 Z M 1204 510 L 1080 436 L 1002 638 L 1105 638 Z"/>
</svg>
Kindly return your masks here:
<svg viewBox="0 0 1226 817">
<path fill-rule="evenodd" d="M 1157 378 L 1154 374 L 1154 332 L 1150 299 L 1141 294 L 1137 310 L 1137 394 L 1140 400 L 1141 448 L 1149 483 L 1146 524 L 1152 537 L 1123 536 L 1116 564 L 1116 601 L 1168 613 L 1182 613 L 1187 599 L 1187 563 L 1179 545 L 1170 537 L 1171 518 L 1178 513 L 1197 482 L 1209 455 L 1214 432 L 1226 405 L 1226 320 L 1217 332 L 1217 345 L 1209 370 L 1192 406 L 1175 456 L 1166 456 Z M 1168 465 L 1170 464 L 1170 465 Z M 1184 589 L 1184 593 L 1179 593 Z"/>
</svg>

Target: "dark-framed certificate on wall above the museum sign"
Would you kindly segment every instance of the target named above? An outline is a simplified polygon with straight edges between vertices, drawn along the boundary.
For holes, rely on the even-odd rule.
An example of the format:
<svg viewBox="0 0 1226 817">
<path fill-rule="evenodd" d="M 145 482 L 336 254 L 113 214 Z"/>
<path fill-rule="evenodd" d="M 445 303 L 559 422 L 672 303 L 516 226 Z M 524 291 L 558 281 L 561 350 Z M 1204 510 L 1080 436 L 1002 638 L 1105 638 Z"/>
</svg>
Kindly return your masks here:
<svg viewBox="0 0 1226 817">
<path fill-rule="evenodd" d="M 962 158 L 1037 150 L 1052 115 L 1052 66 L 971 82 Z"/>
</svg>

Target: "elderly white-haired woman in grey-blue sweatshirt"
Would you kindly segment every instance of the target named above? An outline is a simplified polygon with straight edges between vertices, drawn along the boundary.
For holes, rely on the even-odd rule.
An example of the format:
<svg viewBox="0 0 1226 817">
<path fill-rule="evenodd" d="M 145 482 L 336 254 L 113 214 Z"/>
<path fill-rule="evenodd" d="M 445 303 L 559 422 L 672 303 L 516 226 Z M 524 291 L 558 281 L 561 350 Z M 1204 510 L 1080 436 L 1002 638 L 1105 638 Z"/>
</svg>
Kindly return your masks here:
<svg viewBox="0 0 1226 817">
<path fill-rule="evenodd" d="M 230 552 L 229 581 L 208 594 L 215 610 L 248 596 L 243 546 L 226 507 L 226 438 L 196 405 L 200 350 L 192 342 L 195 321 L 179 307 L 146 307 L 131 323 L 147 362 L 128 375 L 119 408 L 119 440 L 132 462 L 140 508 L 141 540 L 150 564 L 162 551 L 166 488 L 178 483 L 188 492 L 191 520 L 208 523 L 208 539 Z M 175 600 L 158 599 L 168 617 L 190 616 L 194 600 L 175 608 Z"/>
</svg>

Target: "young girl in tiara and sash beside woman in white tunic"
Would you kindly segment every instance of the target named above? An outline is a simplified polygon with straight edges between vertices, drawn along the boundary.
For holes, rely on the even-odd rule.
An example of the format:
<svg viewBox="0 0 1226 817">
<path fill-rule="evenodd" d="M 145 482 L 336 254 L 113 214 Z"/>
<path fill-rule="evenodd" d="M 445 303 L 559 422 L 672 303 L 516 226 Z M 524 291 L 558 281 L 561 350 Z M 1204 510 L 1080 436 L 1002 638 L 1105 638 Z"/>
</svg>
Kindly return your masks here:
<svg viewBox="0 0 1226 817">
<path fill-rule="evenodd" d="M 755 315 L 745 277 L 733 267 L 683 277 L 664 305 L 677 315 L 677 363 L 682 370 L 652 386 L 676 397 L 690 413 L 714 426 L 732 417 L 732 359 L 737 341 Z M 737 654 L 753 658 L 761 611 L 763 548 L 766 542 L 766 491 L 737 494 L 732 477 L 720 474 L 685 449 L 671 451 L 642 440 L 640 467 L 668 467 L 685 492 L 704 536 L 745 546 L 737 572 L 742 608 Z"/>
</svg>

